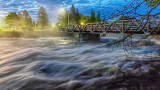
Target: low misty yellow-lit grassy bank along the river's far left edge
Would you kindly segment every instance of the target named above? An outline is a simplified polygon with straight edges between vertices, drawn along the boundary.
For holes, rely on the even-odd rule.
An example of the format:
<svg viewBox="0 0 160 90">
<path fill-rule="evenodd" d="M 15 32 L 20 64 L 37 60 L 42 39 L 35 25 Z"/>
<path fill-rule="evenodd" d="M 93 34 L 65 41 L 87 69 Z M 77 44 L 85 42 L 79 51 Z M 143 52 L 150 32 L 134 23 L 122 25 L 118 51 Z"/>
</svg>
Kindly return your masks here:
<svg viewBox="0 0 160 90">
<path fill-rule="evenodd" d="M 58 31 L 0 31 L 0 37 L 6 38 L 40 38 L 40 37 L 68 37 L 74 36 L 73 33 Z"/>
</svg>

